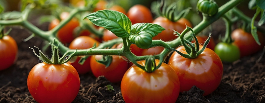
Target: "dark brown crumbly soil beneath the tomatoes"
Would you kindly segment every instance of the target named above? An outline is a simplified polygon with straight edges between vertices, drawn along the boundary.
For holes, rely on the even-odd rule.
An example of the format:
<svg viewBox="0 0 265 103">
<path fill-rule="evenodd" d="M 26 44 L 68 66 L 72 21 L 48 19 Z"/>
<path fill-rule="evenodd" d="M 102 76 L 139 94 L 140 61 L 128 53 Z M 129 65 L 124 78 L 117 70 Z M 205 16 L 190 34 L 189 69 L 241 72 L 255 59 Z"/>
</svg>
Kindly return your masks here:
<svg viewBox="0 0 265 103">
<path fill-rule="evenodd" d="M 27 76 L 41 60 L 29 47 L 44 47 L 47 42 L 39 37 L 23 42 L 22 38 L 30 36 L 30 32 L 20 27 L 12 28 L 10 35 L 16 40 L 19 51 L 16 62 L 0 71 L 0 103 L 35 103 L 27 89 Z M 176 103 L 265 103 L 265 58 L 258 60 L 262 52 L 233 63 L 223 63 L 222 81 L 212 94 L 202 96 L 204 91 L 194 86 L 190 91 L 180 93 Z M 80 90 L 73 103 L 124 103 L 120 83 L 113 84 L 103 76 L 96 78 L 91 72 L 80 75 L 80 82 Z M 109 84 L 114 91 L 107 90 L 106 85 Z"/>
</svg>

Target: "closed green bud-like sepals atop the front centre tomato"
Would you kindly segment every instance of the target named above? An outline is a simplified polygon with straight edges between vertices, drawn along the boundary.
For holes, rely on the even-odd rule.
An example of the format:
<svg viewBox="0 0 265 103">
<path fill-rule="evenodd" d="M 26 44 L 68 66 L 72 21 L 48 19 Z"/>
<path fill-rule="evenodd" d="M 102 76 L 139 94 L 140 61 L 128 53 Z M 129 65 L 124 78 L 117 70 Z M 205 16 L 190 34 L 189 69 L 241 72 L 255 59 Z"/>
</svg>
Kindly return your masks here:
<svg viewBox="0 0 265 103">
<path fill-rule="evenodd" d="M 156 59 L 154 56 L 150 55 L 145 59 L 145 70 L 148 73 L 153 72 L 153 70 L 155 70 L 157 68 L 156 65 Z"/>
</svg>

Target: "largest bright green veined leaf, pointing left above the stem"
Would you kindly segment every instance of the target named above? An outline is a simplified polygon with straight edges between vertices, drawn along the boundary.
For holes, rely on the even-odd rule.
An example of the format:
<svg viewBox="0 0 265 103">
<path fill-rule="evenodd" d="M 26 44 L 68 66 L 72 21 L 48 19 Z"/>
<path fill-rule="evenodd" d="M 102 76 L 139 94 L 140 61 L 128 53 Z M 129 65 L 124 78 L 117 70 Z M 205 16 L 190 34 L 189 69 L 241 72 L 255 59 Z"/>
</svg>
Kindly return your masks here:
<svg viewBox="0 0 265 103">
<path fill-rule="evenodd" d="M 88 18 L 96 26 L 104 27 L 117 37 L 129 37 L 132 22 L 121 12 L 113 10 L 100 10 L 89 14 Z"/>
</svg>

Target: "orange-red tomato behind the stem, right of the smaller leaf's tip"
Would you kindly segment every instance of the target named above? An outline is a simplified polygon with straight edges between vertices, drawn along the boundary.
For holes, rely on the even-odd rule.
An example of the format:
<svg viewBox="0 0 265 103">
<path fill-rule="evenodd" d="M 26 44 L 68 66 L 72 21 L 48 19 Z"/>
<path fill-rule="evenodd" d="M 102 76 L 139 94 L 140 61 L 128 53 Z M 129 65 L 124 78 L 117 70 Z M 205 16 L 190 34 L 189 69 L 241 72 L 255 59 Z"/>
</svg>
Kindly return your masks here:
<svg viewBox="0 0 265 103">
<path fill-rule="evenodd" d="M 162 40 L 162 41 L 172 41 L 177 38 L 176 35 L 173 35 L 173 30 L 181 33 L 185 28 L 186 25 L 183 25 L 180 22 L 172 22 L 168 20 L 165 17 L 157 17 L 154 21 L 153 24 L 158 24 L 161 27 L 164 27 L 166 30 L 162 31 L 159 33 L 157 36 L 153 37 L 153 40 Z"/>
</svg>

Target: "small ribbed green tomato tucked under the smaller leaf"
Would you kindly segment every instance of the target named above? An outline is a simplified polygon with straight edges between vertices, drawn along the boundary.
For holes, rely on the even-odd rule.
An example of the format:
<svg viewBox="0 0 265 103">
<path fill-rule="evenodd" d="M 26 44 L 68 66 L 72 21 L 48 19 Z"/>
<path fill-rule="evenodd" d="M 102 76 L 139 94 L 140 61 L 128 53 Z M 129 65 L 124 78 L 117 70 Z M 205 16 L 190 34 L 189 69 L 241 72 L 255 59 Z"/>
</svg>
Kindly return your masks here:
<svg viewBox="0 0 265 103">
<path fill-rule="evenodd" d="M 148 33 L 131 35 L 129 39 L 132 43 L 136 44 L 137 47 L 142 49 L 147 49 L 147 47 L 152 44 L 152 35 Z"/>
</svg>

